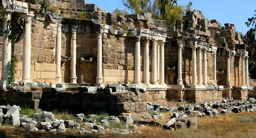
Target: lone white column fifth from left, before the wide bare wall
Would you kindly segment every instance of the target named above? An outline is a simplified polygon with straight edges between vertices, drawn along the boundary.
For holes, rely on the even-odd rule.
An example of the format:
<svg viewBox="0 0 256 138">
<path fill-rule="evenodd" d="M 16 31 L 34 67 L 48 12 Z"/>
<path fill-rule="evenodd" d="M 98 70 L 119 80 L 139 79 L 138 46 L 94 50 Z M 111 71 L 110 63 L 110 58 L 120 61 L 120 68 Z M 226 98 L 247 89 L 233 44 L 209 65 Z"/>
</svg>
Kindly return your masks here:
<svg viewBox="0 0 256 138">
<path fill-rule="evenodd" d="M 103 30 L 97 32 L 98 42 L 97 42 L 97 76 L 96 76 L 96 84 L 103 84 L 103 76 L 102 76 L 102 33 Z"/>
</svg>

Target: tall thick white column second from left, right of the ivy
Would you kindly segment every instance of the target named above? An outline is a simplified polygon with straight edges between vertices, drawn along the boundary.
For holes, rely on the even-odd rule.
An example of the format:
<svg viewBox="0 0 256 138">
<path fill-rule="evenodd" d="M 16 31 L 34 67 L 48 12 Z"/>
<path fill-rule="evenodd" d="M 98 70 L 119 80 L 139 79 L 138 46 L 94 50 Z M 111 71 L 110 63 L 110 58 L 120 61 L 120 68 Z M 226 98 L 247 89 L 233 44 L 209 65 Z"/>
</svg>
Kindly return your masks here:
<svg viewBox="0 0 256 138">
<path fill-rule="evenodd" d="M 25 33 L 23 37 L 23 61 L 22 61 L 22 82 L 31 82 L 30 66 L 31 66 L 31 17 L 25 15 Z"/>
</svg>

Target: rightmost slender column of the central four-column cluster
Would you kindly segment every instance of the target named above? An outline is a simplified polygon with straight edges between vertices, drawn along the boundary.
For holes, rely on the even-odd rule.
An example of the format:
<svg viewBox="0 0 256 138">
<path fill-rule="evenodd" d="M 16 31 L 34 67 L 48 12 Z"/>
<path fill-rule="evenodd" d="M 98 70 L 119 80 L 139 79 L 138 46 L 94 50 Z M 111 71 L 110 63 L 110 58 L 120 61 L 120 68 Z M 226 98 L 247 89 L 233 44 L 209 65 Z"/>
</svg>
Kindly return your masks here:
<svg viewBox="0 0 256 138">
<path fill-rule="evenodd" d="M 160 76 L 159 76 L 159 84 L 165 84 L 164 83 L 164 42 L 165 41 L 160 41 L 159 45 L 160 45 Z"/>
</svg>

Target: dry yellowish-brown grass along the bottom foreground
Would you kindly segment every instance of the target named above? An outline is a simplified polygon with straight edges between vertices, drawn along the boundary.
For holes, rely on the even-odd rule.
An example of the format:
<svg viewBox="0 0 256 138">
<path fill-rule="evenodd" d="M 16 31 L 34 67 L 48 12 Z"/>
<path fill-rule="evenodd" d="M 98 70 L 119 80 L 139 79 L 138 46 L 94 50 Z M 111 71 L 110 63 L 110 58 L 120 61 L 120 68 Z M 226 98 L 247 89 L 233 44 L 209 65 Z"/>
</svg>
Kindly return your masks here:
<svg viewBox="0 0 256 138">
<path fill-rule="evenodd" d="M 165 113 L 160 122 L 169 120 Z M 163 130 L 160 127 L 140 127 L 142 135 L 78 134 L 77 129 L 67 129 L 65 134 L 52 132 L 24 132 L 22 128 L 0 127 L 0 138 L 255 138 L 256 113 L 231 113 L 219 117 L 206 116 L 197 118 L 198 129 L 180 129 L 177 131 Z M 246 118 L 246 119 L 244 119 Z M 242 121 L 241 121 L 242 119 Z"/>
</svg>

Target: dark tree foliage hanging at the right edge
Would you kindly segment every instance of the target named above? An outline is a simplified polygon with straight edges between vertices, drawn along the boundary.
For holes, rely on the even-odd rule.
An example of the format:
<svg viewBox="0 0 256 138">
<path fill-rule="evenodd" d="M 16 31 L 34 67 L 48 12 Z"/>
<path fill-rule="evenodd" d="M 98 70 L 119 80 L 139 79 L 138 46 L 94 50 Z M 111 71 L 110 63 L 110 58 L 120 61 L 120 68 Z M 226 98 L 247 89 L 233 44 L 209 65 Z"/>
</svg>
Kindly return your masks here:
<svg viewBox="0 0 256 138">
<path fill-rule="evenodd" d="M 256 11 L 254 11 L 256 12 Z M 248 22 L 245 22 L 247 27 L 250 27 L 250 30 L 244 36 L 244 43 L 248 45 L 248 66 L 249 73 L 253 75 L 253 79 L 256 79 L 256 14 L 253 17 L 248 18 Z"/>
</svg>

